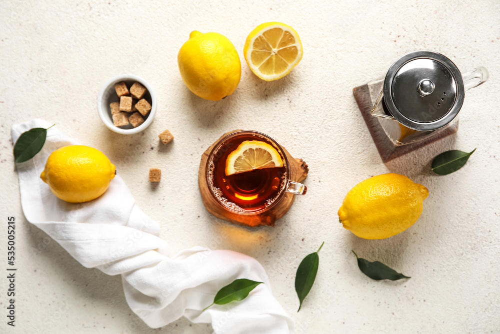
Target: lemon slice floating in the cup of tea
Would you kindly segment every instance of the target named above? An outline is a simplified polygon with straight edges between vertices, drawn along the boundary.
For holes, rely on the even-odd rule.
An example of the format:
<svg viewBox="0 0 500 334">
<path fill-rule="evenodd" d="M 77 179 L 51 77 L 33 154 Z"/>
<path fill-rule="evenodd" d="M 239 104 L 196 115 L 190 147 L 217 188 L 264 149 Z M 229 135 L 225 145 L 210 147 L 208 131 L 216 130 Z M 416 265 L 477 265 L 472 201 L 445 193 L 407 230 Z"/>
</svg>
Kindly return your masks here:
<svg viewBox="0 0 500 334">
<path fill-rule="evenodd" d="M 278 151 L 267 143 L 246 140 L 227 156 L 225 175 L 272 167 L 283 167 Z"/>
</svg>

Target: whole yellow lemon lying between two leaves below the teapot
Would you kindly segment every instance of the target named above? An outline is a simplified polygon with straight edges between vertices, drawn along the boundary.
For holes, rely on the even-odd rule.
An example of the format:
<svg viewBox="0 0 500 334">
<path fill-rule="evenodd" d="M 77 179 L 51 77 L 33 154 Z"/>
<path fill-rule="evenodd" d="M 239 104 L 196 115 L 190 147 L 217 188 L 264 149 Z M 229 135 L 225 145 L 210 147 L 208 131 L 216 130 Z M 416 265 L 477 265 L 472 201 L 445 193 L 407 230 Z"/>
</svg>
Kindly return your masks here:
<svg viewBox="0 0 500 334">
<path fill-rule="evenodd" d="M 370 177 L 349 190 L 338 218 L 364 239 L 384 239 L 413 225 L 422 214 L 429 191 L 401 174 Z"/>
</svg>

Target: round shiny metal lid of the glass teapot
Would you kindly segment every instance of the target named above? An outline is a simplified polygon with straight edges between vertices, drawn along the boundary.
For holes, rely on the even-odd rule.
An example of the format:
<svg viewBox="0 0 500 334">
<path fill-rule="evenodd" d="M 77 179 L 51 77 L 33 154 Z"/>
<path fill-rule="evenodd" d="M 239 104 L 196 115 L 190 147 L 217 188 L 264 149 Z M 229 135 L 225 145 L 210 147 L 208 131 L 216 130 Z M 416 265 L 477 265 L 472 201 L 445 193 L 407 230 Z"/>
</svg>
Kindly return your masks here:
<svg viewBox="0 0 500 334">
<path fill-rule="evenodd" d="M 451 122 L 463 104 L 463 80 L 445 56 L 414 51 L 399 58 L 387 71 L 383 99 L 389 113 L 418 131 L 439 129 Z"/>
</svg>

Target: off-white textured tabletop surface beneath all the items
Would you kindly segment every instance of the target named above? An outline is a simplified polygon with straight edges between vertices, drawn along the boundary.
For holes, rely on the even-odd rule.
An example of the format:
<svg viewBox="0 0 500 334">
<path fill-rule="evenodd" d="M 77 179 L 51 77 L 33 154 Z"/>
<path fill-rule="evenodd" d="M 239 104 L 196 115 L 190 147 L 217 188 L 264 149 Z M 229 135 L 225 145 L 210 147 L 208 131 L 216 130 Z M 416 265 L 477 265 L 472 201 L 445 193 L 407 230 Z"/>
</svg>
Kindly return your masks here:
<svg viewBox="0 0 500 334">
<path fill-rule="evenodd" d="M 6 326 L 0 279 L 0 332 L 209 333 L 179 319 L 150 329 L 128 308 L 119 277 L 86 269 L 24 219 L 13 168 L 10 127 L 42 118 L 116 165 L 138 205 L 161 223 L 171 253 L 194 245 L 254 256 L 295 320 L 297 333 L 500 332 L 500 3 L 489 1 L 0 3 L 0 270 L 6 266 L 6 217 L 16 230 L 16 327 Z M 299 33 L 304 56 L 287 77 L 264 82 L 242 47 L 258 24 L 281 21 Z M 182 84 L 177 52 L 192 30 L 227 36 L 242 62 L 239 87 L 219 102 Z M 352 96 L 399 56 L 429 49 L 463 72 L 490 80 L 466 93 L 458 133 L 384 165 Z M 96 111 L 101 85 L 120 73 L 145 78 L 158 99 L 144 132 L 109 131 Z M 156 137 L 170 129 L 163 147 Z M 306 196 L 273 228 L 247 229 L 210 216 L 198 189 L 201 153 L 222 133 L 262 131 L 310 167 Z M 429 171 L 433 156 L 470 151 L 458 172 Z M 148 169 L 160 167 L 152 188 Z M 357 238 L 337 221 L 347 191 L 372 175 L 398 172 L 430 191 L 423 214 L 385 240 Z M 300 260 L 322 241 L 316 282 L 302 309 L 294 291 Z M 361 257 L 412 276 L 373 281 Z M 1 274 L 3 277 L 3 274 Z"/>
</svg>

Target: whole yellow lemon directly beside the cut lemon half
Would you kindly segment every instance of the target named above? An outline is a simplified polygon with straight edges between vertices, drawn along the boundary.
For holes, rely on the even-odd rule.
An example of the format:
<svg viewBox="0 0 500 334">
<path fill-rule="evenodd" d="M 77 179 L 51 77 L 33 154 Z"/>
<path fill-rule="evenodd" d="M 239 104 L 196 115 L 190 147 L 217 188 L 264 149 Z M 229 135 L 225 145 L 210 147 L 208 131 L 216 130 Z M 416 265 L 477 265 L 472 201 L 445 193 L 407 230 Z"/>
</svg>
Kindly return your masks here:
<svg viewBox="0 0 500 334">
<path fill-rule="evenodd" d="M 231 95 L 241 78 L 239 56 L 225 36 L 193 31 L 177 55 L 180 76 L 200 98 L 218 101 Z"/>
</svg>

